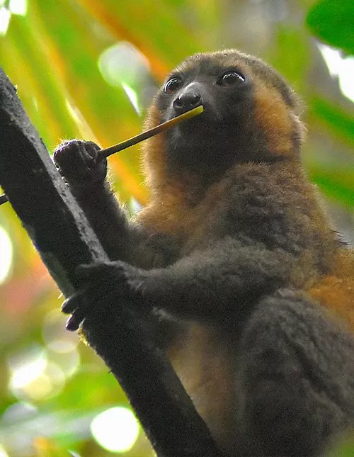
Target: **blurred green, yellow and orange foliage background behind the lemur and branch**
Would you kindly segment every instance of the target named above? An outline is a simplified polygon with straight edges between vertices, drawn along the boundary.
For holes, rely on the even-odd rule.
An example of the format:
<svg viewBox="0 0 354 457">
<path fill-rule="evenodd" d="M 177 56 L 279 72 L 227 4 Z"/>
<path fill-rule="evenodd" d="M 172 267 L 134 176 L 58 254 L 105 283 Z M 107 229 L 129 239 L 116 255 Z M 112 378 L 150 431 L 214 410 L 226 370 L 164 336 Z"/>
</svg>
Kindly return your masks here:
<svg viewBox="0 0 354 457">
<path fill-rule="evenodd" d="M 0 65 L 52 150 L 64 138 L 108 147 L 137 134 L 156 85 L 186 55 L 222 47 L 259 55 L 306 101 L 304 164 L 353 238 L 353 100 L 306 27 L 353 53 L 353 8 L 353 0 L 1 0 Z M 144 204 L 139 147 L 110 165 L 122 200 Z M 64 331 L 59 291 L 8 204 L 1 227 L 13 255 L 0 285 L 0 455 L 108 455 L 90 424 L 110 407 L 129 407 L 125 395 L 93 351 Z M 152 455 L 144 434 L 124 455 Z"/>
</svg>

